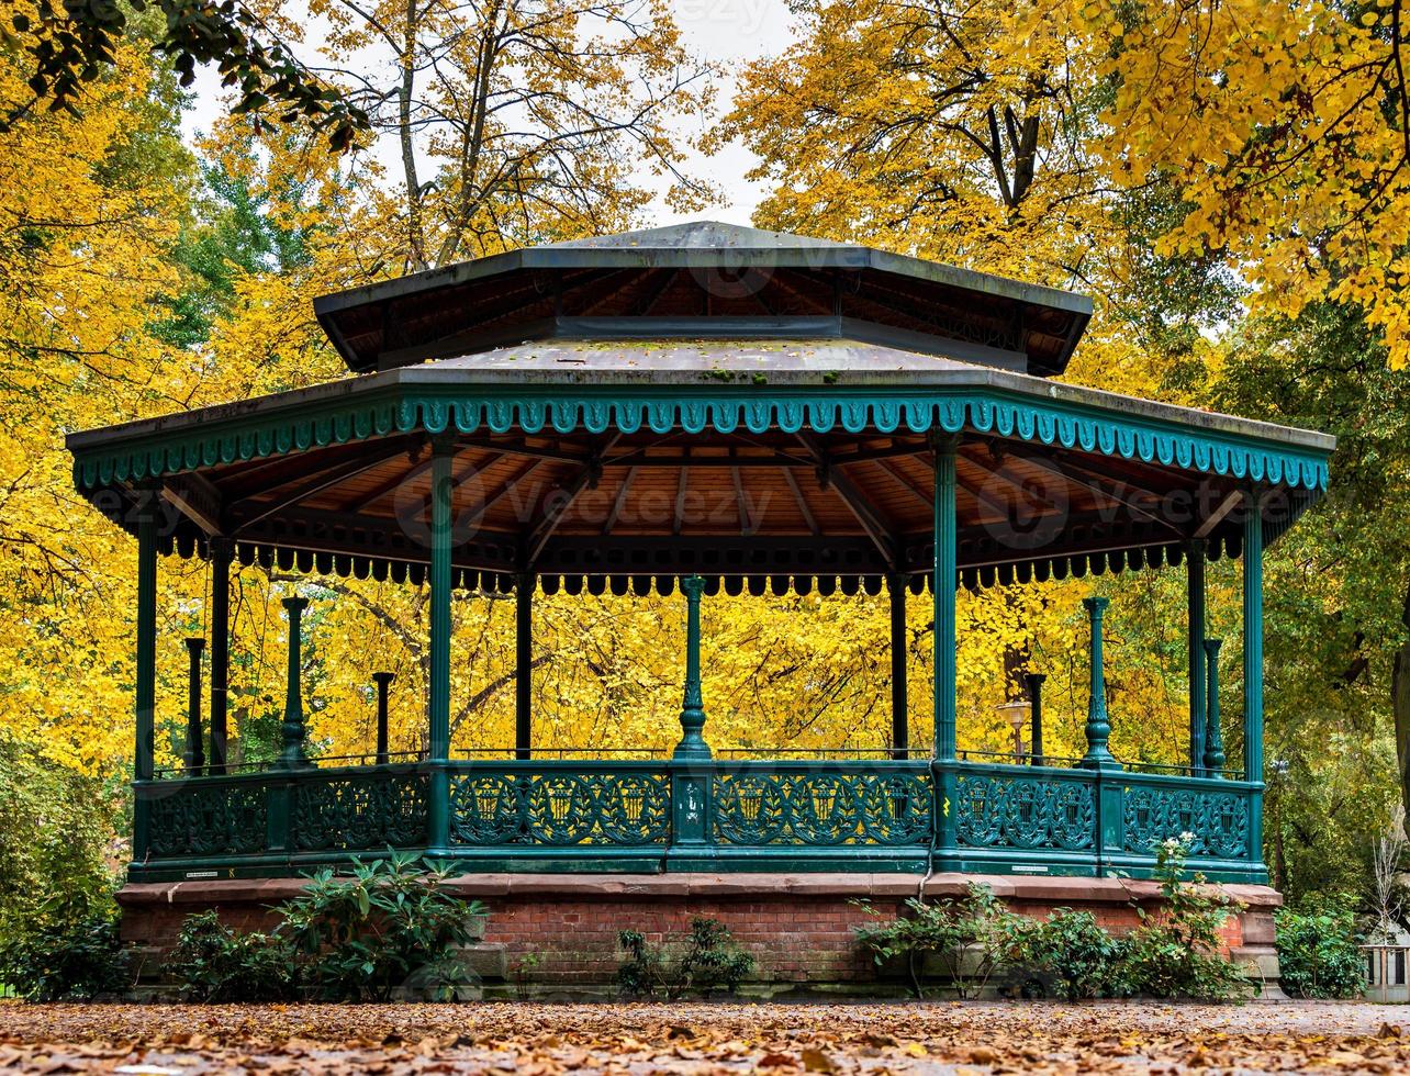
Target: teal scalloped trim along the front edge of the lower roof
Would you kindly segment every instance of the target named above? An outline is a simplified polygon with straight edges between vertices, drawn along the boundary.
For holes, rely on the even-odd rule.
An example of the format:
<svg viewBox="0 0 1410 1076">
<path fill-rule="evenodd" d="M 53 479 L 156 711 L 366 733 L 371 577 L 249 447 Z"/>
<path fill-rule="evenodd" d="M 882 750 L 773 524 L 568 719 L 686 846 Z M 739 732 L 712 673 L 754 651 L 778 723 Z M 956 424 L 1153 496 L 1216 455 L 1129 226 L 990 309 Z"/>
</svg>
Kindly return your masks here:
<svg viewBox="0 0 1410 1076">
<path fill-rule="evenodd" d="M 513 391 L 513 389 L 510 389 Z M 620 389 L 618 389 L 620 391 Z M 367 437 L 424 430 L 436 434 L 454 427 L 474 433 L 523 430 L 534 434 L 551 427 L 568 434 L 575 430 L 603 433 L 608 429 L 634 433 L 706 427 L 732 433 L 740 427 L 763 433 L 771 427 L 785 433 L 835 429 L 862 433 L 876 429 L 894 433 L 902 426 L 911 433 L 966 426 L 980 433 L 997 433 L 1041 444 L 1059 444 L 1086 453 L 1120 456 L 1255 482 L 1292 488 L 1325 489 L 1325 456 L 1296 451 L 1256 439 L 1179 427 L 1135 416 L 1083 408 L 1058 401 L 1005 396 L 997 391 L 945 392 L 924 395 L 866 393 L 773 395 L 766 389 L 746 395 L 697 396 L 677 393 L 608 398 L 598 392 L 554 392 L 534 395 L 520 388 L 513 398 L 481 393 L 474 399 L 447 395 L 403 395 L 361 405 L 331 405 L 298 417 L 274 417 L 238 430 L 206 430 L 149 439 L 127 451 L 75 453 L 75 482 L 96 489 L 111 482 L 144 481 L 165 474 L 214 467 L 268 456 L 282 456 L 312 447 L 344 444 Z"/>
</svg>

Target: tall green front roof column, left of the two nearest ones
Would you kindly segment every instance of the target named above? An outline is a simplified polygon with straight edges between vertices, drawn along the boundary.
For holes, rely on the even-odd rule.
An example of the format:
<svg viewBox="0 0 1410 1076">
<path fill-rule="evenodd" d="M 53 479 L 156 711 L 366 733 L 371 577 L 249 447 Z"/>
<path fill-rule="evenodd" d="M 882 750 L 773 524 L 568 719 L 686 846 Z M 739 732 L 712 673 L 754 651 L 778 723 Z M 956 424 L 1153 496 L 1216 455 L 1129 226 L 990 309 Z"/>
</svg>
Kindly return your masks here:
<svg viewBox="0 0 1410 1076">
<path fill-rule="evenodd" d="M 453 447 L 439 443 L 431 456 L 431 661 L 427 698 L 430 802 L 427 842 L 450 846 L 450 551 Z"/>
</svg>

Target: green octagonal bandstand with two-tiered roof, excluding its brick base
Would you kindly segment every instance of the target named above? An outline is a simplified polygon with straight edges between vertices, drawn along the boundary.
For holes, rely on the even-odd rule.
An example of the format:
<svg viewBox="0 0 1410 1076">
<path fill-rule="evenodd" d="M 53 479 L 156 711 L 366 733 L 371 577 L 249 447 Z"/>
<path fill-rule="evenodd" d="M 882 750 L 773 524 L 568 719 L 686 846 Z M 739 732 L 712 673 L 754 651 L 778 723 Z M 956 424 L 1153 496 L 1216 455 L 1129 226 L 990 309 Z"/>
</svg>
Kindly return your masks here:
<svg viewBox="0 0 1410 1076">
<path fill-rule="evenodd" d="M 352 377 L 76 433 L 78 488 L 137 539 L 133 883 L 290 877 L 385 849 L 467 872 L 1148 876 L 1158 842 L 1263 883 L 1262 551 L 1323 492 L 1332 439 L 1053 381 L 1091 305 L 866 247 L 698 223 L 532 247 L 314 302 Z M 154 774 L 161 554 L 209 558 L 209 752 Z M 1245 745 L 1224 756 L 1204 568 L 1241 557 Z M 423 757 L 320 764 L 289 599 L 285 749 L 227 766 L 234 561 L 430 588 Z M 956 749 L 956 588 L 1184 564 L 1184 766 L 1111 756 L 1104 599 L 1080 759 Z M 455 588 L 517 604 L 515 757 L 451 753 Z M 699 604 L 790 588 L 933 604 L 933 743 L 895 647 L 878 759 L 715 757 Z M 671 757 L 534 757 L 536 592 L 684 595 Z M 1115 721 L 1141 715 L 1117 714 Z"/>
</svg>

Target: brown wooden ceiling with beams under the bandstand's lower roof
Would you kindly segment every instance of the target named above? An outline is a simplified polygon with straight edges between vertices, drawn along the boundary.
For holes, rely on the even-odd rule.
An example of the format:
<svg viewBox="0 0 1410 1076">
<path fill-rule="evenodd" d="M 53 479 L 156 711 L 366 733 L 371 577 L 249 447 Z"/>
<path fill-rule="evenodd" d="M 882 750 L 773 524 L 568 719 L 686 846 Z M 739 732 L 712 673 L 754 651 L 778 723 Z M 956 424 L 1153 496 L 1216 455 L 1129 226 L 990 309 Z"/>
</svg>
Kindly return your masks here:
<svg viewBox="0 0 1410 1076">
<path fill-rule="evenodd" d="M 924 436 L 486 433 L 460 437 L 451 451 L 453 558 L 462 571 L 876 575 L 926 573 L 933 557 Z M 1196 536 L 1215 554 L 1237 550 L 1234 479 L 976 436 L 960 443 L 957 479 L 962 568 L 1026 574 L 1146 550 L 1112 557 L 1136 564 Z M 245 560 L 321 553 L 348 570 L 350 558 L 412 565 L 413 577 L 429 557 L 429 492 L 423 436 L 207 468 L 166 485 L 182 511 L 179 549 L 219 530 Z"/>
</svg>

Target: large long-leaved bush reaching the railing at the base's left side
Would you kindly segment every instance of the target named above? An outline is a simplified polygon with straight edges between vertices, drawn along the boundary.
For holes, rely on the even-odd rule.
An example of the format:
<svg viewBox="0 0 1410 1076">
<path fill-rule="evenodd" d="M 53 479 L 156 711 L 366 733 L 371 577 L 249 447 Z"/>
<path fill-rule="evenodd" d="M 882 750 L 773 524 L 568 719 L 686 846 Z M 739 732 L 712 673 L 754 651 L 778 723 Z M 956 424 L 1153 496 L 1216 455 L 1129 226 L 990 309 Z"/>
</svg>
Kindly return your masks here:
<svg viewBox="0 0 1410 1076">
<path fill-rule="evenodd" d="M 303 982 L 336 1001 L 388 1001 L 399 987 L 455 997 L 468 984 L 455 948 L 477 936 L 485 905 L 448 894 L 450 873 L 448 863 L 389 852 L 354 859 L 350 876 L 313 874 L 278 908 Z"/>
</svg>

